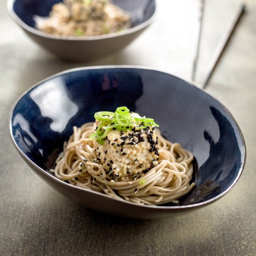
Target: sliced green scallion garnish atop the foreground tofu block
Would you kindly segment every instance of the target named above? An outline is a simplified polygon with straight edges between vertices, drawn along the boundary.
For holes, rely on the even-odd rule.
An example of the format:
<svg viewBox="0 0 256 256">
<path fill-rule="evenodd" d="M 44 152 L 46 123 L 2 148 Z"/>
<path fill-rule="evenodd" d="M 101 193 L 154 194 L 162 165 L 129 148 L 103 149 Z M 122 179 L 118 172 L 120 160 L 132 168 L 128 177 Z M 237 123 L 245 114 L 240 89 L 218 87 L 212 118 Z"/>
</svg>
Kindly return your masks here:
<svg viewBox="0 0 256 256">
<path fill-rule="evenodd" d="M 101 145 L 104 143 L 108 132 L 114 128 L 125 132 L 132 130 L 134 127 L 137 129 L 144 129 L 149 126 L 159 127 L 152 118 L 134 117 L 127 107 L 116 108 L 115 113 L 109 111 L 96 112 L 94 118 L 98 121 L 98 127 L 89 138 L 98 141 Z"/>
</svg>

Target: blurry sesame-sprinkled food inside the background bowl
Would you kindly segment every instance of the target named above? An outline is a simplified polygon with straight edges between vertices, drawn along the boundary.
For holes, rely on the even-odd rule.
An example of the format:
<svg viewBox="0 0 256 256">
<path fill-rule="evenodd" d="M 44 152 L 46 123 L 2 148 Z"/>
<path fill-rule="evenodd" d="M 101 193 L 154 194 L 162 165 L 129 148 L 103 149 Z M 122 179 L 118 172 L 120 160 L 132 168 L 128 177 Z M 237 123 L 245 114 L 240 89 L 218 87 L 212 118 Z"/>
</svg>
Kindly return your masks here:
<svg viewBox="0 0 256 256">
<path fill-rule="evenodd" d="M 54 4 L 48 18 L 36 27 L 48 34 L 94 36 L 131 27 L 130 14 L 111 0 L 63 0 Z"/>
</svg>

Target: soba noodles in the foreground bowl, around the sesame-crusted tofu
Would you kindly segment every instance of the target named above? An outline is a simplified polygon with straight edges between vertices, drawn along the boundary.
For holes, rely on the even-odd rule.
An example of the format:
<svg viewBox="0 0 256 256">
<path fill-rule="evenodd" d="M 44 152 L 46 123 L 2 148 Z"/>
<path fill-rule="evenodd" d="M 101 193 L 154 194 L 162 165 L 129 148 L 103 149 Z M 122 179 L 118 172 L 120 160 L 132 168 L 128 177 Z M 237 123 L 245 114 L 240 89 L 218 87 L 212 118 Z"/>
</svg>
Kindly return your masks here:
<svg viewBox="0 0 256 256">
<path fill-rule="evenodd" d="M 158 164 L 138 174 L 113 177 L 96 161 L 95 141 L 89 139 L 94 128 L 93 122 L 74 127 L 74 134 L 64 143 L 63 152 L 51 170 L 57 178 L 120 200 L 147 205 L 178 203 L 177 199 L 195 186 L 190 183 L 194 156 L 180 144 L 167 141 L 158 129 L 155 130 Z"/>
</svg>

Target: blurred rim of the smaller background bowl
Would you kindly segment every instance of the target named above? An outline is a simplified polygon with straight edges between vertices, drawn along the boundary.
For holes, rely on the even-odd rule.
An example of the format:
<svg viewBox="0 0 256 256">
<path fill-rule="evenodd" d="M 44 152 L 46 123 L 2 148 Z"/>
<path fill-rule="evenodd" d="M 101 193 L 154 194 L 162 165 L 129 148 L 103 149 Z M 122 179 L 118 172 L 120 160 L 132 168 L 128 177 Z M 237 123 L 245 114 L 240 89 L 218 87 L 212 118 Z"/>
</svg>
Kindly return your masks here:
<svg viewBox="0 0 256 256">
<path fill-rule="evenodd" d="M 93 35 L 93 36 L 64 36 L 64 35 L 54 35 L 54 34 L 47 34 L 45 32 L 41 32 L 40 30 L 28 26 L 25 22 L 23 22 L 20 17 L 14 12 L 13 10 L 13 4 L 14 1 L 16 0 L 7 0 L 7 11 L 10 14 L 10 16 L 13 18 L 14 21 L 17 22 L 20 27 L 23 29 L 27 30 L 28 32 L 38 35 L 40 37 L 48 38 L 48 39 L 53 39 L 53 40 L 61 40 L 61 41 L 94 41 L 94 40 L 102 40 L 102 39 L 110 39 L 110 38 L 115 38 L 115 37 L 120 37 L 128 34 L 133 34 L 135 32 L 138 32 L 142 30 L 143 28 L 148 27 L 150 24 L 152 24 L 156 18 L 157 18 L 157 13 L 158 13 L 158 7 L 157 7 L 157 0 L 155 1 L 155 12 L 153 15 L 148 19 L 142 22 L 139 25 L 136 25 L 134 27 L 130 27 L 127 29 L 124 29 L 123 31 L 120 32 L 114 32 L 114 33 L 109 33 L 109 34 L 102 34 L 102 35 Z"/>
</svg>

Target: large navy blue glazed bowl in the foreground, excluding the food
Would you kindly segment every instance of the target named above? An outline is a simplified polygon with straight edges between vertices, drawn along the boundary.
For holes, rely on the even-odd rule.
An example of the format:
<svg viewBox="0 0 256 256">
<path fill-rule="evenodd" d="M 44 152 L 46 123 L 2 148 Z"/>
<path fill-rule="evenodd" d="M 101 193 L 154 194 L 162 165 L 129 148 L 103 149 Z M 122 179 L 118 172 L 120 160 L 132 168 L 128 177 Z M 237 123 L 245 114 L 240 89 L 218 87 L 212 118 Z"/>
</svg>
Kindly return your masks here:
<svg viewBox="0 0 256 256">
<path fill-rule="evenodd" d="M 108 89 L 102 88 L 103 79 Z M 94 121 L 96 111 L 119 106 L 154 118 L 169 141 L 195 155 L 196 185 L 179 205 L 119 201 L 48 172 L 73 126 Z M 134 218 L 167 217 L 215 202 L 239 180 L 246 156 L 243 135 L 220 102 L 175 76 L 142 67 L 84 67 L 47 78 L 16 102 L 10 133 L 25 162 L 54 189 L 90 209 Z"/>
</svg>

